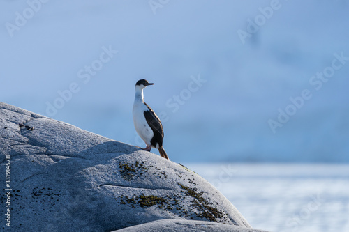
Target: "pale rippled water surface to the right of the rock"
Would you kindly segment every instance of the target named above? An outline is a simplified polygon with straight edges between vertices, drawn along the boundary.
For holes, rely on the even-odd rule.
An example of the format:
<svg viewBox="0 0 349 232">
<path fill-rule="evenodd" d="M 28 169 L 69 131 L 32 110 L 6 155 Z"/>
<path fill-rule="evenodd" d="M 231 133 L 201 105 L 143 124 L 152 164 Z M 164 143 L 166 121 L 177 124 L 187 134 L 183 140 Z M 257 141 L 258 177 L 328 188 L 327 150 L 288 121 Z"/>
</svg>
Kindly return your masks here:
<svg viewBox="0 0 349 232">
<path fill-rule="evenodd" d="M 191 164 L 255 228 L 349 231 L 349 165 Z"/>
</svg>

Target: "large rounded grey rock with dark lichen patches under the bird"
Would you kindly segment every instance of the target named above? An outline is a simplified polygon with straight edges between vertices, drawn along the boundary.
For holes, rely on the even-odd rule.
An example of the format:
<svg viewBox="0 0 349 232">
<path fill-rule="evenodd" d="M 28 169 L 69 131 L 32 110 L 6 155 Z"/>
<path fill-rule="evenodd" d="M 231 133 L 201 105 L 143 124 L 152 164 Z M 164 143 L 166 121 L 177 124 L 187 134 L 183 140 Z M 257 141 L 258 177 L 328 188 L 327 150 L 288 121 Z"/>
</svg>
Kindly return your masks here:
<svg viewBox="0 0 349 232">
<path fill-rule="evenodd" d="M 0 198 L 1 215 L 10 208 L 10 228 L 1 219 L 1 230 L 114 231 L 161 219 L 251 228 L 197 173 L 2 102 L 0 163 L 1 188 L 11 189 L 10 207 Z"/>
</svg>

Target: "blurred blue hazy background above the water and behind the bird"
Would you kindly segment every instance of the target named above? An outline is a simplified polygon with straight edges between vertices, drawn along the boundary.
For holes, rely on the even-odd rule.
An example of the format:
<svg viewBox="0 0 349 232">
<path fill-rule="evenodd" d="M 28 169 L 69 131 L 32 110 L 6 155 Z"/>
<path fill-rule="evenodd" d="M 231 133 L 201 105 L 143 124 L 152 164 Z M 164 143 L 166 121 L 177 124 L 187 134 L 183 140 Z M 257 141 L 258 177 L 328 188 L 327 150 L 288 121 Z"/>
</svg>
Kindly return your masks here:
<svg viewBox="0 0 349 232">
<path fill-rule="evenodd" d="M 1 0 L 0 9 L 2 102 L 144 146 L 132 106 L 145 78 L 176 162 L 349 161 L 348 1 Z M 324 70 L 332 77 L 315 82 Z M 311 98 L 292 106 L 304 90 Z M 292 116 L 273 131 L 279 109 Z"/>
</svg>

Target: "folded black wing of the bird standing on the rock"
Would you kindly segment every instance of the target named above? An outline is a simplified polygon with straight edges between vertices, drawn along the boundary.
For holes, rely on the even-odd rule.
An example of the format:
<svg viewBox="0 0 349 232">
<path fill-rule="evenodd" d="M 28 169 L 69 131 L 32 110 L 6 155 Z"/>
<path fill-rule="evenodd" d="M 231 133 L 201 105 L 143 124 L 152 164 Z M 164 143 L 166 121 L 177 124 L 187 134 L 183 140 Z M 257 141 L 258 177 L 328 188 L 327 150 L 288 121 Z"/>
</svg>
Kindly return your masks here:
<svg viewBox="0 0 349 232">
<path fill-rule="evenodd" d="M 149 109 L 148 111 L 144 111 L 145 119 L 147 120 L 147 123 L 151 127 L 151 130 L 154 132 L 154 137 L 151 139 L 151 145 L 156 146 L 158 144 L 159 147 L 163 146 L 163 124 L 161 124 L 160 119 L 155 114 L 153 109 L 147 105 L 147 103 L 144 102 L 144 104 Z"/>
</svg>

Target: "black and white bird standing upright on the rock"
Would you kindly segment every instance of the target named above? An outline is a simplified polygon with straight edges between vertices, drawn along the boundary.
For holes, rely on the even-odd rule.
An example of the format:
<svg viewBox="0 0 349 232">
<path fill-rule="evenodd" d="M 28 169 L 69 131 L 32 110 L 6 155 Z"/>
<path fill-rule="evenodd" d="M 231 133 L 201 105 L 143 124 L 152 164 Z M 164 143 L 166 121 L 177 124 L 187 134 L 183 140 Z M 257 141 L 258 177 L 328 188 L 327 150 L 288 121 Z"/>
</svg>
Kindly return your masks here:
<svg viewBox="0 0 349 232">
<path fill-rule="evenodd" d="M 135 130 L 143 139 L 147 147 L 144 150 L 151 150 L 151 147 L 158 149 L 161 157 L 168 159 L 163 149 L 163 124 L 155 112 L 144 102 L 143 89 L 154 85 L 145 79 L 140 79 L 135 84 L 135 102 L 133 103 L 133 123 Z M 169 160 L 169 159 L 168 159 Z"/>
</svg>

